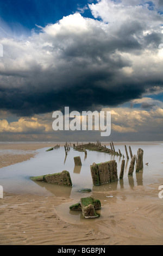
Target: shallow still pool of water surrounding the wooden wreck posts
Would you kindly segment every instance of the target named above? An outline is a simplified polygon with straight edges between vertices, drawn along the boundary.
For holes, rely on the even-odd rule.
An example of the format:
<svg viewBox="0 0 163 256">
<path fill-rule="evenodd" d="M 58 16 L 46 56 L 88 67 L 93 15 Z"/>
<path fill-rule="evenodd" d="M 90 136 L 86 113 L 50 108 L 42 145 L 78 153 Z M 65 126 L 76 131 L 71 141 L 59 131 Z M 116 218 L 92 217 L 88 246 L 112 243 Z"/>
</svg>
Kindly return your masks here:
<svg viewBox="0 0 163 256">
<path fill-rule="evenodd" d="M 134 171 L 133 177 L 128 177 L 130 159 L 127 161 L 124 144 L 125 142 L 120 143 L 120 145 L 115 144 L 115 150 L 118 151 L 118 149 L 120 149 L 121 153 L 125 156 L 124 160 L 126 161 L 126 166 L 124 170 L 123 182 L 121 180 L 118 182 L 112 182 L 104 185 L 104 188 L 107 187 L 109 190 L 117 190 L 121 189 L 122 186 L 123 188 L 132 188 L 139 185 L 147 186 L 153 182 L 157 182 L 159 178 L 163 178 L 163 143 L 130 143 L 133 155 L 137 153 L 138 148 L 142 148 L 144 151 L 143 170 L 139 173 L 135 173 Z M 109 148 L 109 146 L 107 147 Z M 76 192 L 78 192 L 78 190 L 81 188 L 91 188 L 92 190 L 99 189 L 97 187 L 93 187 L 92 185 L 90 165 L 93 162 L 101 163 L 109 160 L 116 160 L 118 175 L 120 174 L 121 161 L 123 157 L 87 150 L 87 157 L 85 158 L 85 154 L 83 152 L 78 152 L 73 150 L 73 148 L 68 151 L 68 155 L 65 157 L 64 147 L 60 147 L 59 149 L 48 152 L 46 152 L 46 149 L 48 148 L 36 150 L 36 156 L 28 161 L 1 168 L 0 185 L 3 186 L 4 191 L 11 193 L 52 193 L 56 194 L 56 196 L 66 193 L 66 197 L 71 197 L 71 195 L 74 197 Z M 3 153 L 25 154 L 26 152 L 23 150 L 3 150 Z M 2 154 L 2 150 L 0 150 L 0 154 Z M 82 167 L 74 166 L 74 156 L 81 157 Z M 148 166 L 145 163 L 148 163 Z M 29 179 L 30 176 L 52 174 L 61 172 L 62 170 L 67 170 L 70 172 L 73 183 L 73 187 L 70 189 L 67 187 L 63 188 L 62 186 L 60 187 L 52 184 L 45 184 L 44 182 L 34 182 Z M 102 186 L 100 187 L 102 188 Z"/>
</svg>

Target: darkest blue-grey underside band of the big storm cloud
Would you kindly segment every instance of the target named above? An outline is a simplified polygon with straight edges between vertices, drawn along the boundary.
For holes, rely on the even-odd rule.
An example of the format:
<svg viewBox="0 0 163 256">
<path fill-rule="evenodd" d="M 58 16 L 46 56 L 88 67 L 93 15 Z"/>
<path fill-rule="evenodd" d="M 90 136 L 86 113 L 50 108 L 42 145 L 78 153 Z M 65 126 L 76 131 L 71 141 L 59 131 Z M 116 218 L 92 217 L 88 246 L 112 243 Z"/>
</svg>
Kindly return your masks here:
<svg viewBox="0 0 163 256">
<path fill-rule="evenodd" d="M 0 92 L 3 109 L 8 109 L 18 115 L 33 115 L 34 113 L 47 113 L 57 109 L 64 111 L 65 106 L 70 107 L 70 111 L 86 111 L 101 106 L 117 106 L 120 103 L 140 97 L 141 88 L 136 89 L 134 85 L 121 85 L 118 89 L 93 88 L 85 81 L 85 86 L 77 85 L 71 88 L 65 88 L 64 91 L 54 90 L 49 92 L 22 93 L 20 89 L 8 89 L 8 92 Z M 125 92 L 124 92 L 125 87 Z M 127 94 L 126 94 L 127 91 Z M 94 106 L 95 105 L 95 106 Z"/>
</svg>

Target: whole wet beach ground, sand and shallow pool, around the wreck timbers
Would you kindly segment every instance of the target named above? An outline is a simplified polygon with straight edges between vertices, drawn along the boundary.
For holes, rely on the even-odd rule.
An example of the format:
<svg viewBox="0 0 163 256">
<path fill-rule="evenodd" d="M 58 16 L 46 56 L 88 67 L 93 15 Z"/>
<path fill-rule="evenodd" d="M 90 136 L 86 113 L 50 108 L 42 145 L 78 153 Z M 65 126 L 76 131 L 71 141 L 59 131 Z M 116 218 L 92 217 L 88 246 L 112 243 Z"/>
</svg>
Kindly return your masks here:
<svg viewBox="0 0 163 256">
<path fill-rule="evenodd" d="M 46 152 L 55 144 L 60 148 Z M 64 143 L 1 143 L 0 157 L 8 166 L 1 161 L 0 245 L 162 245 L 163 144 L 114 143 L 124 155 L 124 144 L 131 146 L 133 154 L 138 148 L 144 150 L 143 171 L 128 177 L 130 159 L 125 156 L 123 180 L 95 187 L 90 164 L 115 159 L 119 175 L 122 157 L 87 151 L 85 158 L 73 148 L 65 157 Z M 73 157 L 78 155 L 82 167 L 74 166 Z M 70 172 L 73 187 L 29 179 L 64 169 Z M 79 192 L 82 188 L 91 192 Z M 100 217 L 85 219 L 82 212 L 69 210 L 87 196 L 101 200 Z"/>
</svg>

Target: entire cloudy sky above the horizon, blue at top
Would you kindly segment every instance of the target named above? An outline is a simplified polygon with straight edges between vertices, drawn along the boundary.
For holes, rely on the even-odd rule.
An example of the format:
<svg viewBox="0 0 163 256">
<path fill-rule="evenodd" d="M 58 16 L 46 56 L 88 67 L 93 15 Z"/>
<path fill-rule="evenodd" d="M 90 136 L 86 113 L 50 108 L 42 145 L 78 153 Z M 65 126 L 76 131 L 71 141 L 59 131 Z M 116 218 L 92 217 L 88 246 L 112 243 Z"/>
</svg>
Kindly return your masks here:
<svg viewBox="0 0 163 256">
<path fill-rule="evenodd" d="M 162 18 L 162 0 L 1 0 L 0 141 L 163 141 Z M 54 131 L 66 106 L 111 111 L 110 136 Z"/>
</svg>

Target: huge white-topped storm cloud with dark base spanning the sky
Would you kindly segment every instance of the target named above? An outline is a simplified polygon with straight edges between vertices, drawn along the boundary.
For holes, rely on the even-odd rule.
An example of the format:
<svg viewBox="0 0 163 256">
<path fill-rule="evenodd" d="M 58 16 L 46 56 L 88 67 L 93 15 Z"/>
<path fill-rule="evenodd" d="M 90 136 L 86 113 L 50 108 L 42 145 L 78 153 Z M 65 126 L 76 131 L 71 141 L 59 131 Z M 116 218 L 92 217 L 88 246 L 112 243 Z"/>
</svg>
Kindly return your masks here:
<svg viewBox="0 0 163 256">
<path fill-rule="evenodd" d="M 95 19 L 75 13 L 26 40 L 1 39 L 0 108 L 23 116 L 84 111 L 163 87 L 160 1 L 127 2 L 98 1 L 89 4 Z"/>
</svg>

